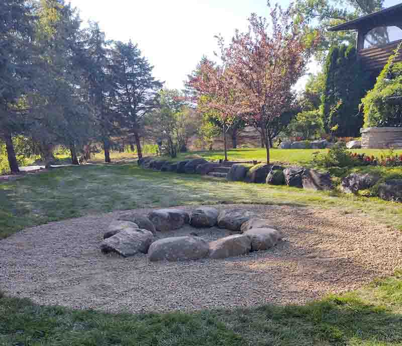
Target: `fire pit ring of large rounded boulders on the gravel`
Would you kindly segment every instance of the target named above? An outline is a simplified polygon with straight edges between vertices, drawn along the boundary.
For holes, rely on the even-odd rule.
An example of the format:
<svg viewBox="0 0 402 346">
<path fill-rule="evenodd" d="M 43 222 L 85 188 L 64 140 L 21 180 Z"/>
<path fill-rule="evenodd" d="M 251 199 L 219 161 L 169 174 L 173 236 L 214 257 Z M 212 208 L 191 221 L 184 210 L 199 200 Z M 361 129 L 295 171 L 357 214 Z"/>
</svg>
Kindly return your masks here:
<svg viewBox="0 0 402 346">
<path fill-rule="evenodd" d="M 190 225 L 194 228 L 218 227 L 235 234 L 207 241 L 196 233 L 186 236 L 164 237 L 167 233 Z M 200 207 L 190 212 L 183 209 L 158 209 L 147 216 L 132 215 L 114 220 L 104 233 L 100 249 L 116 252 L 124 257 L 147 254 L 149 261 L 187 261 L 202 258 L 227 258 L 246 255 L 250 251 L 267 250 L 282 240 L 280 231 L 265 219 L 242 209 L 219 211 Z"/>
</svg>

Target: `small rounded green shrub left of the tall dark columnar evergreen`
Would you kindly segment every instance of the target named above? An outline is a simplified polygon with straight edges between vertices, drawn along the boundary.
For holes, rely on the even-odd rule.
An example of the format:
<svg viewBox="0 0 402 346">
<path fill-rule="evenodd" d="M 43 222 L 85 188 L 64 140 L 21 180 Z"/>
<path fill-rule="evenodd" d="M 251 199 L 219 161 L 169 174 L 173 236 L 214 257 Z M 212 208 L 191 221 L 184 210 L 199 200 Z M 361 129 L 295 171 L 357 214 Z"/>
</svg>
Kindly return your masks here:
<svg viewBox="0 0 402 346">
<path fill-rule="evenodd" d="M 291 135 L 301 133 L 305 139 L 321 137 L 325 133 L 325 130 L 320 111 L 314 110 L 298 113 L 290 122 L 288 131 Z"/>
</svg>

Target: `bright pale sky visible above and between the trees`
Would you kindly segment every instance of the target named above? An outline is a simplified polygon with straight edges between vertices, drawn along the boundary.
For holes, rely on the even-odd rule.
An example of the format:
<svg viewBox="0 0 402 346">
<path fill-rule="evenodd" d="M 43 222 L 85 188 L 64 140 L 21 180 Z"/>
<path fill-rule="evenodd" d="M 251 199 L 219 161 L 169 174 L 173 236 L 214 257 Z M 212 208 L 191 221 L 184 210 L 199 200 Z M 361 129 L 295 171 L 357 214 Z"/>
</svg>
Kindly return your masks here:
<svg viewBox="0 0 402 346">
<path fill-rule="evenodd" d="M 165 87 L 181 89 L 203 55 L 213 57 L 214 36 L 227 41 L 235 29 L 245 31 L 251 13 L 268 17 L 266 0 L 70 0 L 82 20 L 99 23 L 108 39 L 138 44 Z M 66 0 L 68 2 L 68 0 Z M 283 6 L 289 0 L 278 0 Z M 272 1 L 271 1 L 272 3 Z M 386 0 L 386 6 L 400 0 Z M 318 67 L 309 65 L 310 72 Z M 305 78 L 297 89 L 303 88 Z"/>
</svg>

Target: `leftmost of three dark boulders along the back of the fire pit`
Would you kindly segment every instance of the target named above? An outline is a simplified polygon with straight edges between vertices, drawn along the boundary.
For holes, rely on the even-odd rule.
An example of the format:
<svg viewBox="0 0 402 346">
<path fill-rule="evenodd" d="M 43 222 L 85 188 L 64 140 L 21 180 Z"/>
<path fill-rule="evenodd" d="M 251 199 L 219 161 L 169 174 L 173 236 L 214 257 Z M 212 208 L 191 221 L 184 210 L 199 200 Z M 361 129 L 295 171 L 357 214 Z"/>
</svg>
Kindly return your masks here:
<svg viewBox="0 0 402 346">
<path fill-rule="evenodd" d="M 149 213 L 148 218 L 160 232 L 178 229 L 190 220 L 188 213 L 181 209 L 154 210 Z"/>
</svg>

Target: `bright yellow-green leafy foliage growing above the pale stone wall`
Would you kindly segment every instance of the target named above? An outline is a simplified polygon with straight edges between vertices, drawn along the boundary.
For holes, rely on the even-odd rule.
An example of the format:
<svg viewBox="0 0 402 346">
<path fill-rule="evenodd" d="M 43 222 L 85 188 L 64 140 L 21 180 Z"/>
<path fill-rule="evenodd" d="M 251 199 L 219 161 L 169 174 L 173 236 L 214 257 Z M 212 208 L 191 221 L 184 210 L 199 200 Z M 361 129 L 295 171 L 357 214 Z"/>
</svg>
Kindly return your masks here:
<svg viewBox="0 0 402 346">
<path fill-rule="evenodd" d="M 364 127 L 402 126 L 402 62 L 394 63 L 396 54 L 389 58 L 374 89 L 362 99 Z M 396 102 L 395 97 L 399 98 Z"/>
</svg>

